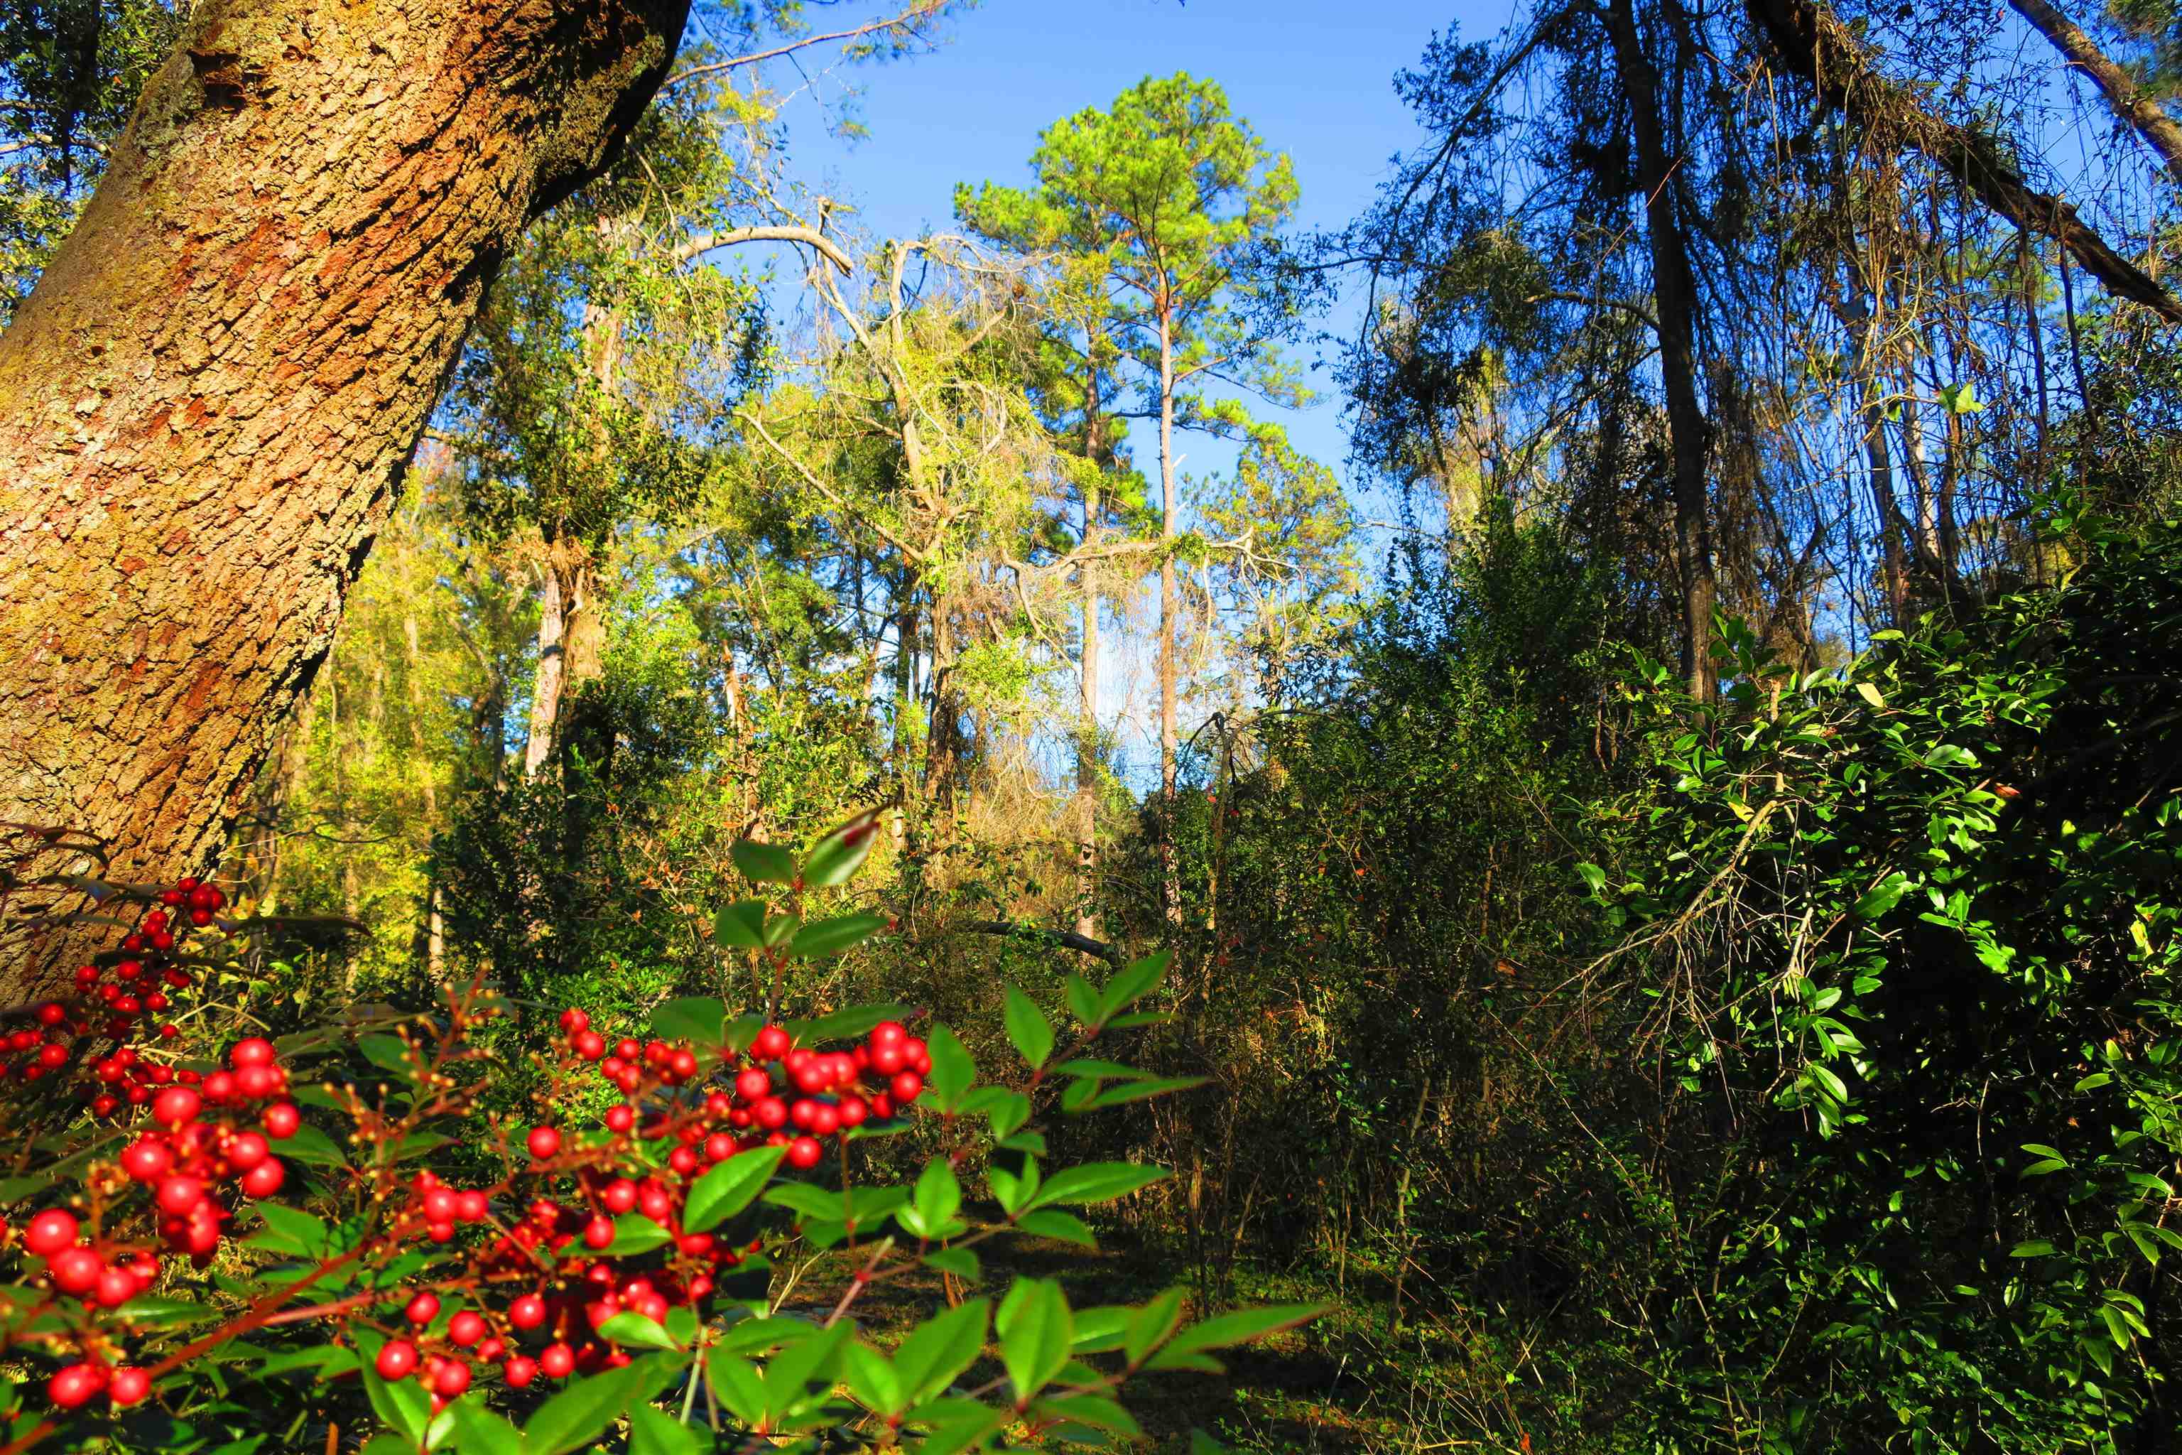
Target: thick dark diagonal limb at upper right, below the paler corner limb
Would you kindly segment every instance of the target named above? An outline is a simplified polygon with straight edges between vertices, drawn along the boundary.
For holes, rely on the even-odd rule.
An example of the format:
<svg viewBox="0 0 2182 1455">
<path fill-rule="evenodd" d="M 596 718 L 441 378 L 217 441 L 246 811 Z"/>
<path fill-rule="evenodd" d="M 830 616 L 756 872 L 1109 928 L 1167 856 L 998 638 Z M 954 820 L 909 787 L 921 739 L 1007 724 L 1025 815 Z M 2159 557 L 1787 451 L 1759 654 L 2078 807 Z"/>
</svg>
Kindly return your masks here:
<svg viewBox="0 0 2182 1455">
<path fill-rule="evenodd" d="M 2143 303 L 2167 323 L 2182 323 L 2182 301 L 2106 244 L 2075 207 L 2034 190 L 1999 142 L 1957 127 L 1918 105 L 1907 87 L 1872 65 L 1870 48 L 1813 0 L 1746 0 L 1750 20 L 1772 39 L 1781 61 L 1809 81 L 1820 98 L 1877 135 L 1925 153 L 2016 227 L 2053 238 L 2106 284 L 2108 292 Z"/>
</svg>

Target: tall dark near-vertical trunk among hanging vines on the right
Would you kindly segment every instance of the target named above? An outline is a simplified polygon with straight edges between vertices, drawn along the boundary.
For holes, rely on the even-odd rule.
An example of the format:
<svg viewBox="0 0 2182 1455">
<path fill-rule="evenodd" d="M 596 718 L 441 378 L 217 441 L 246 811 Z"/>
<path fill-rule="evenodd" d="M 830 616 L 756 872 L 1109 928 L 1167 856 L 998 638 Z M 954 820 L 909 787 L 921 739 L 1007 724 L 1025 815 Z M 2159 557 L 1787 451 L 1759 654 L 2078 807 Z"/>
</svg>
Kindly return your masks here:
<svg viewBox="0 0 2182 1455">
<path fill-rule="evenodd" d="M 1608 26 L 1615 70 L 1628 92 L 1636 131 L 1636 185 L 1645 194 L 1652 244 L 1652 299 L 1658 305 L 1658 371 L 1667 388 L 1667 434 L 1674 443 L 1674 548 L 1682 565 L 1682 681 L 1698 700 L 1719 689 L 1713 668 L 1713 515 L 1704 482 L 1706 423 L 1698 404 L 1698 279 L 1674 207 L 1674 170 L 1661 133 L 1658 74 L 1643 50 L 1630 0 L 1612 0 Z"/>
</svg>

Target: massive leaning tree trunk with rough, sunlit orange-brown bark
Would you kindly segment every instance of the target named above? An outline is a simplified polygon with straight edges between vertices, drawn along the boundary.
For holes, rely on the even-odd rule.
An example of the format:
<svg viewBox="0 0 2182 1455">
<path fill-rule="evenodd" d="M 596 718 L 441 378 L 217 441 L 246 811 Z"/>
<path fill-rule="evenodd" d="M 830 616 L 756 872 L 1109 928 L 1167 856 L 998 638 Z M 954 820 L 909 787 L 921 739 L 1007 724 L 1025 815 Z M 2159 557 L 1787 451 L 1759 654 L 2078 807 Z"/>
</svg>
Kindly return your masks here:
<svg viewBox="0 0 2182 1455">
<path fill-rule="evenodd" d="M 504 249 L 687 0 L 209 0 L 0 336 L 0 820 L 205 868 Z M 15 949 L 44 982 L 81 945 Z"/>
</svg>

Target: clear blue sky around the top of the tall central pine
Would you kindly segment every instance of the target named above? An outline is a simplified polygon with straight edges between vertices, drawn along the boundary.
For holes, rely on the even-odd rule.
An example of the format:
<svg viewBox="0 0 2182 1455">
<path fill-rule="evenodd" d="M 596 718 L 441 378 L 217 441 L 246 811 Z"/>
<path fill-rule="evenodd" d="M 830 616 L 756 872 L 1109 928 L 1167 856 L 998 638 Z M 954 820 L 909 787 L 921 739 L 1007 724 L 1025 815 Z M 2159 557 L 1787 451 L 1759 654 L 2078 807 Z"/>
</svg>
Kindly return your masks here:
<svg viewBox="0 0 2182 1455">
<path fill-rule="evenodd" d="M 790 124 L 794 172 L 860 209 L 871 236 L 916 236 L 954 225 L 958 181 L 1030 181 L 1030 151 L 1050 122 L 1104 107 L 1146 74 L 1185 70 L 1226 87 L 1235 113 L 1285 151 L 1303 190 L 1298 227 L 1353 218 L 1416 140 L 1392 79 L 1427 37 L 1460 22 L 1468 37 L 1499 31 L 1508 0 L 984 0 L 936 52 L 886 68 L 812 76 L 812 96 L 862 94 L 868 135 L 827 135 L 812 96 Z M 775 72 L 775 85 L 792 85 Z M 1327 321 L 1344 329 L 1346 310 Z M 1316 351 L 1300 349 L 1309 364 Z M 1283 414 L 1292 438 L 1340 467 L 1346 434 L 1324 369 L 1311 371 L 1322 404 Z M 1185 471 L 1218 469 L 1231 452 L 1183 445 Z"/>
</svg>

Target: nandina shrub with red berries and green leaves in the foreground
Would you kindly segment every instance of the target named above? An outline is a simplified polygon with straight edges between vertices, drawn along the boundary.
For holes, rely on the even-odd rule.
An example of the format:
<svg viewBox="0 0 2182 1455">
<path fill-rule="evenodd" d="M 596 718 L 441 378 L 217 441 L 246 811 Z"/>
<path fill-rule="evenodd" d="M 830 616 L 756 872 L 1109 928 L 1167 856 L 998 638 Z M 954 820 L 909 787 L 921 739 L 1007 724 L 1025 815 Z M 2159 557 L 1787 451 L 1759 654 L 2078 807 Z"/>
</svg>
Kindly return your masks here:
<svg viewBox="0 0 2182 1455">
<path fill-rule="evenodd" d="M 1017 1232 L 1089 1246 L 1069 1209 L 1163 1174 L 1047 1169 L 1041 1128 L 1176 1086 L 1080 1054 L 1156 1019 L 1130 1006 L 1163 958 L 1104 986 L 1069 977 L 1067 1049 L 1054 1017 L 1010 993 L 1023 1065 L 1008 1078 L 980 1078 L 945 1025 L 899 1006 L 788 1017 L 796 960 L 886 925 L 799 916 L 807 888 L 853 875 L 873 825 L 801 857 L 738 844 L 757 894 L 720 910 L 716 936 L 746 960 L 755 1006 L 674 999 L 646 1038 L 609 1038 L 583 1008 L 515 1006 L 478 977 L 434 1014 L 362 1034 L 196 1054 L 159 1017 L 196 988 L 212 942 L 251 925 L 223 918 L 216 886 L 96 886 L 107 914 L 133 918 L 122 947 L 4 1041 L 20 1134 L 0 1185 L 0 1352 L 15 1376 L 0 1455 L 552 1455 L 751 1435 L 814 1451 L 820 1431 L 873 1448 L 1095 1446 L 1137 1433 L 1115 1398 L 1128 1376 L 1218 1370 L 1207 1350 L 1309 1318 L 1185 1326 L 1178 1289 L 1071 1309 L 1056 1283 L 1015 1278 L 895 1348 L 864 1337 L 855 1304 L 873 1283 L 943 1270 L 978 1285 L 980 1246 Z M 554 1034 L 532 1054 L 530 1106 L 493 1110 L 500 1027 L 539 1014 Z M 375 1075 L 351 1075 L 358 1058 Z M 57 1091 L 81 1097 L 74 1117 Z M 914 1121 L 936 1152 L 914 1180 L 886 1180 L 866 1143 Z M 991 1215 L 958 1176 L 980 1163 Z M 777 1270 L 807 1280 L 820 1254 L 838 1285 L 790 1307 L 807 1283 Z M 988 1342 L 997 1372 L 964 1387 Z"/>
</svg>

